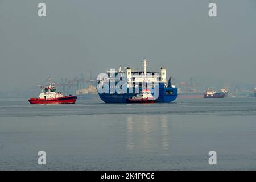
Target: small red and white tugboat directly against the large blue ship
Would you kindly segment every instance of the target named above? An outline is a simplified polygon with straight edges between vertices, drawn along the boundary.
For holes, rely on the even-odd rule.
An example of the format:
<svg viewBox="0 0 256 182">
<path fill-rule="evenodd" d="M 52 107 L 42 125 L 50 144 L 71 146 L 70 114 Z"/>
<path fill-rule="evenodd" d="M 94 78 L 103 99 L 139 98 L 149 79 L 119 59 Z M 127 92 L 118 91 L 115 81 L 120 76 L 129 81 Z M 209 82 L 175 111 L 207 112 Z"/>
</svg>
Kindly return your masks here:
<svg viewBox="0 0 256 182">
<path fill-rule="evenodd" d="M 150 89 L 144 89 L 140 94 L 137 94 L 137 96 L 127 98 L 127 102 L 129 103 L 154 103 L 155 101 Z"/>
</svg>

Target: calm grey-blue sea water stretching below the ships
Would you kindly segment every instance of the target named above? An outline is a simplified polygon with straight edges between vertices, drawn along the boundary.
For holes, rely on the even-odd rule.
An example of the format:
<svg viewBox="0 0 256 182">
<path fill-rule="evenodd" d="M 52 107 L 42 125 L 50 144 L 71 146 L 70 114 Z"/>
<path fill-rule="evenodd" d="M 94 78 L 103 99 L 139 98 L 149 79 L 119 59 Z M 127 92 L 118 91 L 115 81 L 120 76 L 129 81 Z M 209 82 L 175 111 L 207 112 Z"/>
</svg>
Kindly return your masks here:
<svg viewBox="0 0 256 182">
<path fill-rule="evenodd" d="M 47 164 L 38 164 L 38 151 Z M 208 152 L 217 152 L 210 166 Z M 256 98 L 171 104 L 0 100 L 1 170 L 256 169 Z"/>
</svg>

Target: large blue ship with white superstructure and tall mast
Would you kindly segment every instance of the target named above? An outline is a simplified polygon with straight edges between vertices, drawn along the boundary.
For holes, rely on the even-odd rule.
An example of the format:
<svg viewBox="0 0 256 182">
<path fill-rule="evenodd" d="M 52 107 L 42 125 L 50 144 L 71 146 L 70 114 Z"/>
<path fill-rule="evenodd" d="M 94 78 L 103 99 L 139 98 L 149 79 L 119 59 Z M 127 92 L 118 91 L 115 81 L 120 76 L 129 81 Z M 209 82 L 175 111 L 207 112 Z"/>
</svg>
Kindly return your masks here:
<svg viewBox="0 0 256 182">
<path fill-rule="evenodd" d="M 160 72 L 147 71 L 148 61 L 143 60 L 144 70 L 124 67 L 119 71 L 111 69 L 98 76 L 98 94 L 105 103 L 127 103 L 127 100 L 150 89 L 156 102 L 172 102 L 177 98 L 177 88 L 171 85 L 171 77 L 166 80 L 166 69 Z"/>
</svg>

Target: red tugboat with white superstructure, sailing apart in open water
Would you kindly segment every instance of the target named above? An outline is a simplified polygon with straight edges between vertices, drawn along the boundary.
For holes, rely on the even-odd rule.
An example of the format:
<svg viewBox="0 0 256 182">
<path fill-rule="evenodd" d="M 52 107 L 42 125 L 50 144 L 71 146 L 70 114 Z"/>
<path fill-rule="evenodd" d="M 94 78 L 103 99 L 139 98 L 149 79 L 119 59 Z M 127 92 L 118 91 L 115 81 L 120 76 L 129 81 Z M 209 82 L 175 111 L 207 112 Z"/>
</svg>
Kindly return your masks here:
<svg viewBox="0 0 256 182">
<path fill-rule="evenodd" d="M 56 92 L 54 83 L 49 78 L 49 85 L 44 89 L 41 86 L 42 93 L 38 98 L 30 98 L 30 104 L 75 104 L 76 96 L 64 96 L 60 92 Z"/>
</svg>

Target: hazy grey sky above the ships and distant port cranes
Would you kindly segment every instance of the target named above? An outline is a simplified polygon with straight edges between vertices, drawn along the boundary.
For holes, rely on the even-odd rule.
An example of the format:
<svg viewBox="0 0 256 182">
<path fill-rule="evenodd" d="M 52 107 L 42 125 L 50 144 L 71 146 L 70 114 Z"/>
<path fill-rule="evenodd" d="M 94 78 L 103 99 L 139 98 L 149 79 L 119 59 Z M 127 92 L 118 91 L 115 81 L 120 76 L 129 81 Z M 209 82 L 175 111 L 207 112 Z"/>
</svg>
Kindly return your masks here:
<svg viewBox="0 0 256 182">
<path fill-rule="evenodd" d="M 256 1 L 0 0 L 0 91 L 140 68 L 144 57 L 176 81 L 256 85 Z"/>
</svg>

